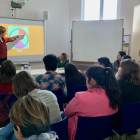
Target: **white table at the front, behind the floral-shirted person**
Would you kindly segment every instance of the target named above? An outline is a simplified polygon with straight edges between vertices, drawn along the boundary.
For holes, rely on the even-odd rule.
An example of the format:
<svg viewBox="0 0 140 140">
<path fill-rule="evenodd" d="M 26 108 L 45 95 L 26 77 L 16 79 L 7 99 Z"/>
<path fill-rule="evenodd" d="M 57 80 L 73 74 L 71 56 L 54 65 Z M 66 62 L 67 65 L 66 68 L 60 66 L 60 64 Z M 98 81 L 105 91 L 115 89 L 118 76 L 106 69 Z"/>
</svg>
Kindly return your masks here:
<svg viewBox="0 0 140 140">
<path fill-rule="evenodd" d="M 21 72 L 22 70 L 17 70 L 16 72 L 19 73 Z M 65 73 L 65 70 L 64 68 L 57 68 L 56 72 L 58 74 L 64 74 Z M 31 75 L 34 76 L 34 75 L 43 75 L 46 73 L 46 70 L 45 69 L 33 69 L 31 70 Z"/>
</svg>

